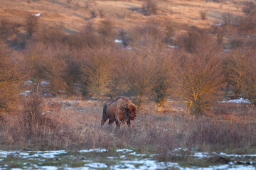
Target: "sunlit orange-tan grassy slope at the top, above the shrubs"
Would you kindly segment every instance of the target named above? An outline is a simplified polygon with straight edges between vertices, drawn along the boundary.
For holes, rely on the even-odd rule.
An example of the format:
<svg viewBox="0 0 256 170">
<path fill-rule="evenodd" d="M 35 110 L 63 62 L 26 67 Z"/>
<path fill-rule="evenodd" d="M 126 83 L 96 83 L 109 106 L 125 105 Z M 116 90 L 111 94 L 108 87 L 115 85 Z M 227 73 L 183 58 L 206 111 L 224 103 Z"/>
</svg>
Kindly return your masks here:
<svg viewBox="0 0 256 170">
<path fill-rule="evenodd" d="M 154 16 L 144 16 L 141 12 L 144 1 L 1 1 L 0 17 L 17 23 L 23 23 L 28 14 L 41 13 L 41 23 L 47 26 L 63 26 L 71 32 L 78 31 L 87 22 L 97 23 L 102 18 L 114 22 L 115 28 L 131 29 L 142 26 L 147 21 L 160 24 L 171 22 L 183 26 L 209 28 L 223 23 L 223 13 L 241 15 L 243 0 L 239 1 L 157 1 L 157 12 Z M 92 18 L 92 13 L 95 18 Z M 201 20 L 201 12 L 206 13 L 206 20 Z"/>
</svg>

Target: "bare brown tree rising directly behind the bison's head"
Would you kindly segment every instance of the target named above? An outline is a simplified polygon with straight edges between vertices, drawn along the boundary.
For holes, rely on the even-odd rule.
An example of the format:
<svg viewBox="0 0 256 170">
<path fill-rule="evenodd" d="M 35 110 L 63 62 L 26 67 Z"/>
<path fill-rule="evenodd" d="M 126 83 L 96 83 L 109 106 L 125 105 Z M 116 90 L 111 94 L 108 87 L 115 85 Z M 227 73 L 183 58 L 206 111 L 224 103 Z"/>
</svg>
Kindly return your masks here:
<svg viewBox="0 0 256 170">
<path fill-rule="evenodd" d="M 154 84 L 155 47 L 138 48 L 138 50 L 124 50 L 120 69 L 127 86 L 134 96 L 137 106 L 142 104 L 145 96 L 149 96 Z"/>
</svg>

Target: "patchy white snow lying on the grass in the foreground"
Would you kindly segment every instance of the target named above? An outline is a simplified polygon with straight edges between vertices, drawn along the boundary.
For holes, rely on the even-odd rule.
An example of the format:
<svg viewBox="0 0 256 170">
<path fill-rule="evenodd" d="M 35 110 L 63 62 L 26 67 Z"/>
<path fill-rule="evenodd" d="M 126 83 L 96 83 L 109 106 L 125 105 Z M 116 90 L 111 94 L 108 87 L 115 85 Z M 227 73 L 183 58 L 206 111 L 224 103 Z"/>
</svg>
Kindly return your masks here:
<svg viewBox="0 0 256 170">
<path fill-rule="evenodd" d="M 178 151 L 189 151 L 190 149 L 188 148 L 176 148 L 174 149 L 174 152 Z M 191 149 L 193 151 L 194 149 Z M 107 149 L 84 149 L 80 150 L 79 152 L 107 152 Z M 238 165 L 238 162 L 230 162 L 229 164 L 221 164 L 221 165 L 213 165 L 213 166 L 208 166 L 208 167 L 184 167 L 180 166 L 176 162 L 158 162 L 152 157 L 154 157 L 157 154 L 152 154 L 148 158 L 142 158 L 143 156 L 146 156 L 145 154 L 137 154 L 137 152 L 132 151 L 131 149 L 117 149 L 117 152 L 120 152 L 120 154 L 132 154 L 137 156 L 137 159 L 126 159 L 125 155 L 120 155 L 119 158 L 122 158 L 122 160 L 119 159 L 118 162 L 112 165 L 107 165 L 104 162 L 92 162 L 91 159 L 85 159 L 85 164 L 82 167 L 69 167 L 70 165 L 66 164 L 64 167 L 59 167 L 59 166 L 40 166 L 42 161 L 46 161 L 46 159 L 53 159 L 53 158 L 58 158 L 61 159 L 60 154 L 66 154 L 64 150 L 55 150 L 55 151 L 3 151 L 0 150 L 0 170 L 1 169 L 6 169 L 9 167 L 8 164 L 2 164 L 4 162 L 4 159 L 8 157 L 9 154 L 14 154 L 15 157 L 21 157 L 22 159 L 38 159 L 39 162 L 38 164 L 33 164 L 33 163 L 24 163 L 22 169 L 48 169 L 48 170 L 55 170 L 55 169 L 65 169 L 65 170 L 70 170 L 70 169 L 77 169 L 77 170 L 87 170 L 87 169 L 181 169 L 181 170 L 195 170 L 195 169 L 200 169 L 200 170 L 211 170 L 211 169 L 245 169 L 245 170 L 252 170 L 255 169 L 255 166 L 252 165 Z M 171 153 L 171 152 L 170 152 Z M 198 157 L 198 159 L 203 158 L 203 157 L 214 157 L 215 155 L 221 156 L 221 157 L 231 157 L 234 159 L 235 157 L 252 157 L 253 160 L 255 160 L 256 154 L 225 154 L 223 152 L 216 153 L 216 152 L 191 152 L 191 157 Z M 66 156 L 65 156 L 66 157 Z M 68 157 L 73 157 L 72 155 L 68 155 Z M 44 158 L 44 159 L 39 159 L 39 158 Z M 106 159 L 118 159 L 118 157 L 106 157 Z M 247 162 L 242 162 L 246 164 Z M 250 162 L 253 164 L 254 162 Z M 14 169 L 17 170 L 17 169 Z"/>
</svg>

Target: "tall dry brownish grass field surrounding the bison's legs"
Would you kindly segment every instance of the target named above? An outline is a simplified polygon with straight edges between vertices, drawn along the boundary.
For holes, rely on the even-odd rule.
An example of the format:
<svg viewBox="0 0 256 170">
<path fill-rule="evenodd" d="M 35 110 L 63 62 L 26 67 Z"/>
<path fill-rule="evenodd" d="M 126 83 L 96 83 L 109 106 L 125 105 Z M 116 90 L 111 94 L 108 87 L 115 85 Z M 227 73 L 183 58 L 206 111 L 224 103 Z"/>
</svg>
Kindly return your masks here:
<svg viewBox="0 0 256 170">
<path fill-rule="evenodd" d="M 32 98 L 30 98 L 32 99 Z M 28 100 L 28 99 L 26 99 Z M 225 107 L 225 106 L 224 106 Z M 176 147 L 202 150 L 247 148 L 256 144 L 255 108 L 213 111 L 196 118 L 176 111 L 155 114 L 140 110 L 132 128 L 105 125 L 100 128 L 102 102 L 60 102 L 52 99 L 28 100 L 20 113 L 5 115 L 1 123 L 1 145 L 33 149 L 127 148 L 164 152 Z M 33 123 L 31 114 L 37 115 Z M 217 115 L 215 115 L 215 113 Z M 251 119 L 251 120 L 250 120 Z"/>
</svg>

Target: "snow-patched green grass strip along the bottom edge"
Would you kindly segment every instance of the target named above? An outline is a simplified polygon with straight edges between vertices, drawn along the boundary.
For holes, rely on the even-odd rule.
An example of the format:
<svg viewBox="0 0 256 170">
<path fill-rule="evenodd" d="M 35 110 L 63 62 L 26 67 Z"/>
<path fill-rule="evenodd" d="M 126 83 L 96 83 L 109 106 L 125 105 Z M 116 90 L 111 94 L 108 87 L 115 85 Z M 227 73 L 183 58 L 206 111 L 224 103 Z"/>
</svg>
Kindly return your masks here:
<svg viewBox="0 0 256 170">
<path fill-rule="evenodd" d="M 177 148 L 169 154 L 187 152 L 188 149 Z M 208 152 L 191 152 L 193 159 L 225 157 L 228 164 L 208 165 L 206 167 L 184 166 L 178 162 L 158 162 L 154 159 L 159 154 L 139 154 L 132 149 L 83 149 L 75 151 L 3 151 L 0 150 L 0 169 L 255 169 L 256 154 L 225 154 Z M 250 157 L 250 162 L 237 159 Z"/>
</svg>

